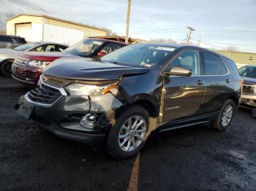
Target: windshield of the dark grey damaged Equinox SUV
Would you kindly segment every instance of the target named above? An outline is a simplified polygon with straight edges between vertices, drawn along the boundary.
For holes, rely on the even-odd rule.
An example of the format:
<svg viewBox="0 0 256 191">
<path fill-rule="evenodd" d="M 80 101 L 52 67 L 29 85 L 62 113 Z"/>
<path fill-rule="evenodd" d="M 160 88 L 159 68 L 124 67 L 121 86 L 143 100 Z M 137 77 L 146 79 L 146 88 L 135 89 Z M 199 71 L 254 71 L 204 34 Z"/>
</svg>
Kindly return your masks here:
<svg viewBox="0 0 256 191">
<path fill-rule="evenodd" d="M 105 55 L 102 62 L 119 63 L 121 65 L 151 68 L 167 58 L 175 50 L 157 44 L 132 44 Z"/>
</svg>

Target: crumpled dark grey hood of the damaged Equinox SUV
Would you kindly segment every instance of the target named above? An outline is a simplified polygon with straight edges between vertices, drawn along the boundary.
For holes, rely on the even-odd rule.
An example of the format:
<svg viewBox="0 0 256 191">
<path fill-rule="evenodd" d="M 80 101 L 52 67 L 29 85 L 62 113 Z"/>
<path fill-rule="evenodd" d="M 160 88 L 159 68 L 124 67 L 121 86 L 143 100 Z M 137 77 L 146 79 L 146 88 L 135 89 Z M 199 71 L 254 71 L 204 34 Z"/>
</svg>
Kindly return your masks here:
<svg viewBox="0 0 256 191">
<path fill-rule="evenodd" d="M 122 75 L 145 74 L 149 69 L 102 63 L 91 58 L 60 58 L 44 69 L 45 75 L 64 79 L 111 80 Z"/>
</svg>

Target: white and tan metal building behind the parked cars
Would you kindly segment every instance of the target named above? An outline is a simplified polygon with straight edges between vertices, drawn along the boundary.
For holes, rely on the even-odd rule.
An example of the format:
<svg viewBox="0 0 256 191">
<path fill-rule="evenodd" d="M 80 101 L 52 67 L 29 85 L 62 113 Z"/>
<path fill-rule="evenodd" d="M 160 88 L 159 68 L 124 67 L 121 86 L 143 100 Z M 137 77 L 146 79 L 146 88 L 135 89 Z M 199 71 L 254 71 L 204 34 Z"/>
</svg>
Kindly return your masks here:
<svg viewBox="0 0 256 191">
<path fill-rule="evenodd" d="M 47 15 L 22 14 L 7 20 L 7 34 L 22 36 L 28 42 L 70 45 L 90 36 L 106 36 L 107 31 Z"/>
</svg>

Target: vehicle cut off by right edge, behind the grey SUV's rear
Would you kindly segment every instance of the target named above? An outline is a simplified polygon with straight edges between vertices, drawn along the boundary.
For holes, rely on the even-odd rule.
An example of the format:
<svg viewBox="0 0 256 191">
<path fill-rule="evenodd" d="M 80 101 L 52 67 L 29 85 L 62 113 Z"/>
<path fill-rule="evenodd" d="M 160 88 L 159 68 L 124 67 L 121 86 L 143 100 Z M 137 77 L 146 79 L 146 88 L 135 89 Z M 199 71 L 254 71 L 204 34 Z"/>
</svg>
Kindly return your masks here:
<svg viewBox="0 0 256 191">
<path fill-rule="evenodd" d="M 244 79 L 241 106 L 256 106 L 256 65 L 244 66 L 239 69 Z"/>
</svg>

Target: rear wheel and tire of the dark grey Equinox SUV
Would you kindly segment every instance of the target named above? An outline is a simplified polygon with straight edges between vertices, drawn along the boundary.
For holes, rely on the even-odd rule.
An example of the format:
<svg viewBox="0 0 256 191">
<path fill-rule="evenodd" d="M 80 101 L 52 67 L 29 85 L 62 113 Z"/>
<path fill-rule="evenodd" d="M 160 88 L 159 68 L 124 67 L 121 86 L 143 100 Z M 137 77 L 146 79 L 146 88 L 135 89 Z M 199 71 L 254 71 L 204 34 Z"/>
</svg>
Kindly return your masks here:
<svg viewBox="0 0 256 191">
<path fill-rule="evenodd" d="M 227 130 L 230 126 L 230 123 L 233 120 L 234 114 L 236 112 L 236 106 L 232 100 L 227 100 L 222 106 L 222 109 L 219 112 L 217 120 L 212 123 L 212 128 L 215 128 L 219 131 Z"/>
</svg>

